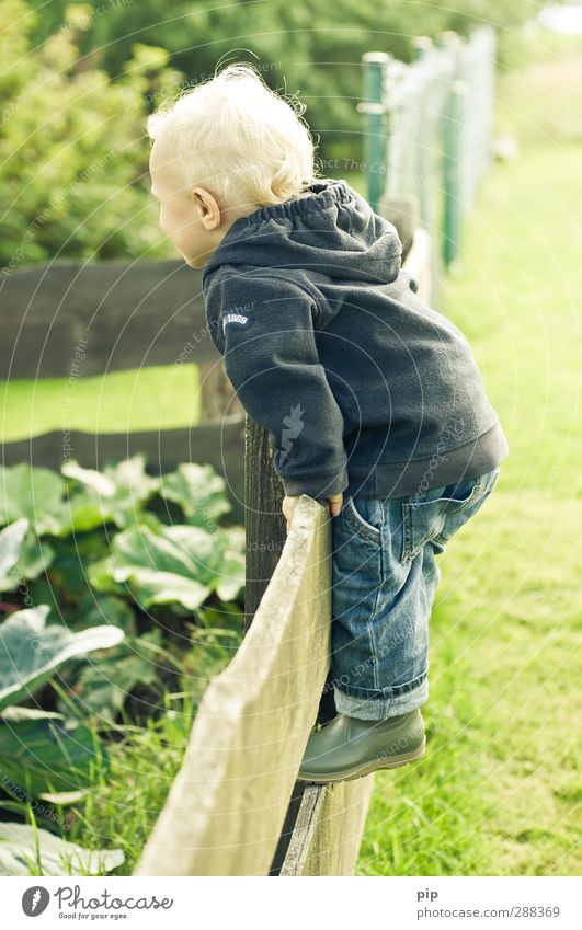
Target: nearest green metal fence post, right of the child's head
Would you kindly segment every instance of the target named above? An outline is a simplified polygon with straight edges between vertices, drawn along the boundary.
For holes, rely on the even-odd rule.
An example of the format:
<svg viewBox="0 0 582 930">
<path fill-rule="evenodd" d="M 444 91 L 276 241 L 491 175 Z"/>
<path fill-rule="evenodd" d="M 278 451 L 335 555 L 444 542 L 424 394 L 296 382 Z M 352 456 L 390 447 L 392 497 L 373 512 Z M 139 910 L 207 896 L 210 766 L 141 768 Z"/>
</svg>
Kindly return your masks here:
<svg viewBox="0 0 582 930">
<path fill-rule="evenodd" d="M 367 51 L 362 56 L 363 97 L 357 110 L 364 114 L 364 162 L 367 174 L 368 202 L 378 209 L 386 176 L 385 76 L 390 56 Z M 384 168 L 384 170 L 383 170 Z"/>
</svg>

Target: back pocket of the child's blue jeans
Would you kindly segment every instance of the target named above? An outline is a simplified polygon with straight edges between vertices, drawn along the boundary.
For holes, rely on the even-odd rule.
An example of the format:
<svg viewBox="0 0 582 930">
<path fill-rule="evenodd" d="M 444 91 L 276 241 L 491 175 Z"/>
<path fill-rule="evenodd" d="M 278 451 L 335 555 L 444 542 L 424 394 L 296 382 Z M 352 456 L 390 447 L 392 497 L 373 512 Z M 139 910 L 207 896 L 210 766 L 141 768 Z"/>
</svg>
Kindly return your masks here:
<svg viewBox="0 0 582 930">
<path fill-rule="evenodd" d="M 477 479 L 433 489 L 423 500 L 402 502 L 401 562 L 414 559 L 432 541 L 443 552 L 452 537 L 480 509 L 499 477 L 499 468 Z"/>
</svg>

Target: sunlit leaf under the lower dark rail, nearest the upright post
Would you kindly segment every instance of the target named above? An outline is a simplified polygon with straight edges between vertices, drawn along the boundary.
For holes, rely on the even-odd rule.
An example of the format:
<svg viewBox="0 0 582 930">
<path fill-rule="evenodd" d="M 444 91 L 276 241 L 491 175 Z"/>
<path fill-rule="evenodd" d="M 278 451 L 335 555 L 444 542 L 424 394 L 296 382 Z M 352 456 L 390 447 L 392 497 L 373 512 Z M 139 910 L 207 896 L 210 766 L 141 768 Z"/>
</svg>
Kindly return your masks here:
<svg viewBox="0 0 582 930">
<path fill-rule="evenodd" d="M 162 475 L 160 494 L 180 505 L 186 523 L 209 532 L 216 529 L 218 518 L 231 509 L 226 481 L 209 464 L 179 466 L 176 471 Z"/>
</svg>

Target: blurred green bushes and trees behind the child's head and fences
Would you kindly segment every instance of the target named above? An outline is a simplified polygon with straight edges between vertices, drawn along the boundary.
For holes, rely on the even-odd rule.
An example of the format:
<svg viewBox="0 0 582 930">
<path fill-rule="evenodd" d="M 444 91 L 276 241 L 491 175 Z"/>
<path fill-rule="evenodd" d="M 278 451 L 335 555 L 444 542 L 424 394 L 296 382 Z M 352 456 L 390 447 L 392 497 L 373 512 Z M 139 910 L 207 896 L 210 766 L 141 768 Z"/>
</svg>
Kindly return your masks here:
<svg viewBox="0 0 582 930">
<path fill-rule="evenodd" d="M 0 265 L 175 257 L 149 196 L 145 118 L 221 62 L 252 61 L 271 88 L 296 94 L 321 159 L 360 161 L 363 53 L 407 61 L 419 33 L 492 22 L 500 61 L 514 68 L 537 11 L 533 0 L 0 0 Z"/>
</svg>

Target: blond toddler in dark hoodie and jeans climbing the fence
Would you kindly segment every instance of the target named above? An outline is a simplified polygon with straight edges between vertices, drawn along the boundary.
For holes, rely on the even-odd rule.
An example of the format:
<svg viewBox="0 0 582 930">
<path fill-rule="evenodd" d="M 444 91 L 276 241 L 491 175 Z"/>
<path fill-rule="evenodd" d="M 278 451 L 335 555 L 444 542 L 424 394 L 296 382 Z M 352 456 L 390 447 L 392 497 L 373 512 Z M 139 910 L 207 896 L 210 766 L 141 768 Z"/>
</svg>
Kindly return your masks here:
<svg viewBox="0 0 582 930">
<path fill-rule="evenodd" d="M 160 225 L 204 267 L 208 330 L 285 490 L 329 502 L 336 716 L 299 778 L 425 750 L 437 556 L 509 452 L 472 352 L 416 295 L 395 227 L 318 177 L 296 101 L 230 65 L 148 119 Z"/>
</svg>

